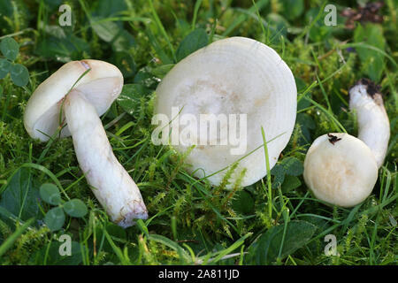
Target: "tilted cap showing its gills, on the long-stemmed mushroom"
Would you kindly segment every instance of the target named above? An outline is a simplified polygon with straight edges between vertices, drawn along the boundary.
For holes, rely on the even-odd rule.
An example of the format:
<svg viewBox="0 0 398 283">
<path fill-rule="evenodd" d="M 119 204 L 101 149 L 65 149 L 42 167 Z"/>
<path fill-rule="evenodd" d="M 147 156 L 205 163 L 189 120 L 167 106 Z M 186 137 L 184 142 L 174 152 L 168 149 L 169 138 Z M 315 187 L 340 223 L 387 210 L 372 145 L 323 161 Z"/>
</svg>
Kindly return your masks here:
<svg viewBox="0 0 398 283">
<path fill-rule="evenodd" d="M 79 80 L 88 69 L 91 70 Z M 34 90 L 27 102 L 24 124 L 31 137 L 45 142 L 57 131 L 60 107 L 71 88 L 79 91 L 101 116 L 119 96 L 123 75 L 115 65 L 99 60 L 72 61 L 61 66 Z M 65 126 L 61 136 L 69 135 Z"/>
</svg>

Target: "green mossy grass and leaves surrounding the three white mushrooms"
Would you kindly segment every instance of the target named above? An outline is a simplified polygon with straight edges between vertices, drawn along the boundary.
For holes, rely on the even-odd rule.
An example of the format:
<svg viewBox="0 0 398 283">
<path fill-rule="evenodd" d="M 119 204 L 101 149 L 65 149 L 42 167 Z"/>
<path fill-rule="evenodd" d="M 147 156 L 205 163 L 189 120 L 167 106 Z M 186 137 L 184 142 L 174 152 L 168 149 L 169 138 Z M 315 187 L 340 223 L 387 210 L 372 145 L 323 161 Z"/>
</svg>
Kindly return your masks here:
<svg viewBox="0 0 398 283">
<path fill-rule="evenodd" d="M 386 1 L 380 11 L 384 22 L 364 24 L 367 32 L 382 30 L 379 40 L 370 40 L 359 28 L 345 28 L 340 15 L 337 26 L 325 27 L 318 9 L 325 2 L 287 2 L 119 0 L 108 6 L 107 1 L 70 0 L 65 4 L 72 8 L 73 26 L 62 28 L 57 2 L 0 4 L 0 39 L 12 36 L 19 42 L 16 63 L 30 73 L 25 87 L 14 85 L 10 75 L 0 80 L 0 263 L 397 264 L 398 7 Z M 357 7 L 356 1 L 335 4 L 339 12 Z M 233 35 L 264 42 L 295 74 L 294 133 L 271 174 L 249 187 L 238 180 L 226 190 L 227 177 L 210 187 L 187 171 L 189 152 L 180 155 L 150 142 L 154 90 L 177 62 L 180 42 L 197 28 L 209 42 Z M 23 126 L 34 89 L 66 61 L 83 58 L 118 65 L 125 83 L 134 84 L 133 104 L 118 101 L 102 118 L 115 155 L 149 210 L 148 220 L 126 230 L 112 224 L 96 202 L 72 139 L 40 143 Z M 378 64 L 377 70 L 371 68 Z M 348 88 L 362 77 L 375 80 L 385 94 L 392 133 L 387 158 L 364 203 L 351 209 L 326 206 L 305 186 L 302 162 L 319 135 L 356 135 Z M 263 136 L 264 148 L 258 150 L 267 155 L 270 141 Z M 226 176 L 234 168 L 226 168 Z M 48 182 L 65 199 L 86 203 L 88 214 L 66 217 L 61 230 L 50 231 L 43 218 L 51 207 L 38 197 L 39 187 Z M 73 256 L 57 253 L 62 234 L 71 236 Z M 327 234 L 336 236 L 338 256 L 325 256 Z"/>
</svg>

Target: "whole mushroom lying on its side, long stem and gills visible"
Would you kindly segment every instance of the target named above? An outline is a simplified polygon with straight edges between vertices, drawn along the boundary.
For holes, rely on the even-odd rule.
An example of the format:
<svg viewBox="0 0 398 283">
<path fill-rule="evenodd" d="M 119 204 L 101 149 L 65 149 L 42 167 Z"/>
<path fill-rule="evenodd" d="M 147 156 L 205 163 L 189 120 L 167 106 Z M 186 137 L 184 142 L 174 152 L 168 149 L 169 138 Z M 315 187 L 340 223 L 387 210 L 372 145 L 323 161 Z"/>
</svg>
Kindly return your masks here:
<svg viewBox="0 0 398 283">
<path fill-rule="evenodd" d="M 123 76 L 114 65 L 98 60 L 69 62 L 35 89 L 24 125 L 32 138 L 45 142 L 65 121 L 60 136 L 72 134 L 76 157 L 94 195 L 112 221 L 128 227 L 134 218 L 148 218 L 147 209 L 134 180 L 114 156 L 99 119 L 122 87 Z"/>
</svg>

